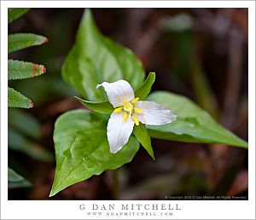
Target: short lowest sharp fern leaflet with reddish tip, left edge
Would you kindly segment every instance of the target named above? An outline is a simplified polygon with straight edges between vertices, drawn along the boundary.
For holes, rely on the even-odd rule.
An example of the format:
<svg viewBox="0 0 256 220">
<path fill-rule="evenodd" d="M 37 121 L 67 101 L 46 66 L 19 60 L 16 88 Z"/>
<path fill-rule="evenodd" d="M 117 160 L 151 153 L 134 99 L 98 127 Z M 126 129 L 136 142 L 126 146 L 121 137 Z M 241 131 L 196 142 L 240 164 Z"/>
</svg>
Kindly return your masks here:
<svg viewBox="0 0 256 220">
<path fill-rule="evenodd" d="M 33 107 L 33 102 L 20 92 L 8 87 L 8 107 Z"/>
</svg>

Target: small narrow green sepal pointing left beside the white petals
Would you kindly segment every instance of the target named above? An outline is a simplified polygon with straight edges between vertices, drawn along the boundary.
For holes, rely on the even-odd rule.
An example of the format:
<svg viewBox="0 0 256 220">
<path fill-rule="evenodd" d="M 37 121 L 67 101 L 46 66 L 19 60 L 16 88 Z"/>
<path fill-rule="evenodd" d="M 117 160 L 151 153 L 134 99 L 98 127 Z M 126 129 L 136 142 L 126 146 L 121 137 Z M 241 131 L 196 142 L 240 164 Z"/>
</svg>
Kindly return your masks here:
<svg viewBox="0 0 256 220">
<path fill-rule="evenodd" d="M 95 111 L 97 113 L 113 113 L 113 106 L 109 101 L 100 101 L 100 102 L 93 102 L 93 101 L 85 101 L 77 96 L 74 96 L 84 107 L 88 107 L 90 110 Z"/>
</svg>

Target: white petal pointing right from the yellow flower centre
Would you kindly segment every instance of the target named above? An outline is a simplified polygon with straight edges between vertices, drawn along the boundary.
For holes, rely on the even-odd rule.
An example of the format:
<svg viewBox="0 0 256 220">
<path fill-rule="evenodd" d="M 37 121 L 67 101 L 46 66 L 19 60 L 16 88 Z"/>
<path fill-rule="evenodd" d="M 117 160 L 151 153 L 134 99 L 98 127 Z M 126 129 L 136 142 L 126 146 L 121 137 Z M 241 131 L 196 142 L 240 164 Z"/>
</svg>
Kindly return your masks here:
<svg viewBox="0 0 256 220">
<path fill-rule="evenodd" d="M 136 107 L 143 112 L 137 114 L 137 118 L 143 124 L 168 124 L 177 119 L 177 116 L 169 109 L 166 109 L 154 101 L 137 101 Z"/>
</svg>

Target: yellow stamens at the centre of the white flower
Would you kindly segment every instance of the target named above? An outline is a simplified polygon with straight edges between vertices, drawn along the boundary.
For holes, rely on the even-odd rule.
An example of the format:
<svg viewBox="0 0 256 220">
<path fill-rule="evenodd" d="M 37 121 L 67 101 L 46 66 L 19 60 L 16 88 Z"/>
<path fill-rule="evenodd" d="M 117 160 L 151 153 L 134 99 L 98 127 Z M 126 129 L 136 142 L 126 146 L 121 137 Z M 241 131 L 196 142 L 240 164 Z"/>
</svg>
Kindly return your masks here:
<svg viewBox="0 0 256 220">
<path fill-rule="evenodd" d="M 126 121 L 131 117 L 136 125 L 139 124 L 139 120 L 137 119 L 137 113 L 143 113 L 142 110 L 135 107 L 136 102 L 139 101 L 139 98 L 135 98 L 131 101 L 123 101 L 122 107 L 117 107 L 113 110 L 114 113 L 124 113 L 123 120 Z"/>
</svg>

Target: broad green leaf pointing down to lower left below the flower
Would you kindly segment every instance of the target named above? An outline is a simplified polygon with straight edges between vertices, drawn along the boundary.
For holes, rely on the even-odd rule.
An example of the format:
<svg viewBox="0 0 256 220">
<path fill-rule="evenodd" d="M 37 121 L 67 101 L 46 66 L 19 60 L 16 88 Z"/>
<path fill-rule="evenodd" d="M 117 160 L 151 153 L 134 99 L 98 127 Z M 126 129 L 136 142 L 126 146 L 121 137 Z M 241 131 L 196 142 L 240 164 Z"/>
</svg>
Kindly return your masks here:
<svg viewBox="0 0 256 220">
<path fill-rule="evenodd" d="M 107 124 L 85 110 L 73 110 L 55 122 L 55 180 L 49 196 L 106 170 L 115 170 L 131 161 L 139 143 L 131 136 L 118 153 L 110 153 Z"/>
</svg>

